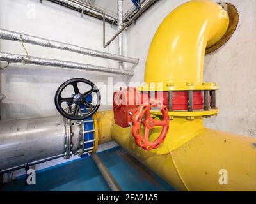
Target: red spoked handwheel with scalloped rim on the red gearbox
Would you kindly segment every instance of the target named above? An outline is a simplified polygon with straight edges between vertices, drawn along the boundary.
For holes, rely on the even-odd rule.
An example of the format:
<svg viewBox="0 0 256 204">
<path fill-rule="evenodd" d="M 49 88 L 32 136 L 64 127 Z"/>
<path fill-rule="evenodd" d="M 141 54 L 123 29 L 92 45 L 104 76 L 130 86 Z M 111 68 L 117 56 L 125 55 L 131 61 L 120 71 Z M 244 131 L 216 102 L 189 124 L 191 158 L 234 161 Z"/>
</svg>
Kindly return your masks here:
<svg viewBox="0 0 256 204">
<path fill-rule="evenodd" d="M 163 120 L 155 120 L 150 117 L 150 109 L 152 107 L 161 110 Z M 143 119 L 144 115 L 145 119 Z M 150 103 L 146 102 L 143 105 L 140 105 L 132 119 L 132 135 L 135 138 L 136 144 L 145 150 L 157 149 L 157 147 L 164 142 L 168 133 L 169 120 L 168 110 L 161 101 L 150 99 Z M 141 135 L 141 123 L 145 127 L 144 136 Z M 153 129 L 156 126 L 162 126 L 162 131 L 156 140 L 149 142 L 148 137 L 150 135 L 150 129 Z"/>
</svg>

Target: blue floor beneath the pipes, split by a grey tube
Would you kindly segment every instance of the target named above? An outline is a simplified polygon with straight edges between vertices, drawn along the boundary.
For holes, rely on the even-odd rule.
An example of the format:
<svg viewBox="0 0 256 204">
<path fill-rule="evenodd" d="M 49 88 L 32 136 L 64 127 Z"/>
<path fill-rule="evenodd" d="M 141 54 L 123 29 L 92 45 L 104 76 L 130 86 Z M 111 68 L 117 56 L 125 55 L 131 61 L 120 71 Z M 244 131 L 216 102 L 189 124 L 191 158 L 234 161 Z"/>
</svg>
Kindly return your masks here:
<svg viewBox="0 0 256 204">
<path fill-rule="evenodd" d="M 120 147 L 99 153 L 124 191 L 175 191 Z M 86 157 L 36 171 L 36 185 L 24 176 L 4 184 L 0 191 L 109 191 L 92 158 Z"/>
</svg>

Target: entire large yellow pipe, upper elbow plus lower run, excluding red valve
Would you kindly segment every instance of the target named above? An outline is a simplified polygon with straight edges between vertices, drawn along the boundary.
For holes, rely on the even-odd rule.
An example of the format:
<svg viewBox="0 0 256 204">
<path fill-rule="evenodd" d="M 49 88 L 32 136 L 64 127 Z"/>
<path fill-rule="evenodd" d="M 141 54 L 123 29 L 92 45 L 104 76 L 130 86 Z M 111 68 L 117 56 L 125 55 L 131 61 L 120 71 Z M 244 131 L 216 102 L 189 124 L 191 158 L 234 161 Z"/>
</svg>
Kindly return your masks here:
<svg viewBox="0 0 256 204">
<path fill-rule="evenodd" d="M 152 41 L 145 81 L 201 83 L 205 48 L 227 31 L 228 18 L 220 18 L 221 12 L 225 11 L 207 0 L 189 1 L 173 10 Z M 256 138 L 204 128 L 202 116 L 191 121 L 174 117 L 159 149 L 145 151 L 134 142 L 131 127 L 122 128 L 109 117 L 105 119 L 111 121 L 113 140 L 176 189 L 256 191 Z M 152 129 L 150 138 L 160 131 Z"/>
</svg>

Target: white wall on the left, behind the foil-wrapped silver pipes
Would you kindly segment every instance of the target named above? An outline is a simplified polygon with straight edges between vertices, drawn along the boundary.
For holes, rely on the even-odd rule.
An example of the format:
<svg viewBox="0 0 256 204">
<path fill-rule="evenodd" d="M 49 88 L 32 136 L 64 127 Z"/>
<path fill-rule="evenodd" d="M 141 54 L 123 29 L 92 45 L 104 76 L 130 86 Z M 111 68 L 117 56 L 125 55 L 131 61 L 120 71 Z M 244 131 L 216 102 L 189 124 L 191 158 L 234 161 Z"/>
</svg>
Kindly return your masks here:
<svg viewBox="0 0 256 204">
<path fill-rule="evenodd" d="M 64 41 L 82 47 L 118 53 L 117 41 L 107 48 L 102 47 L 102 21 L 87 15 L 81 18 L 80 13 L 72 11 L 50 1 L 35 0 L 1 0 L 0 27 L 11 31 L 31 34 L 52 40 Z M 106 24 L 106 40 L 116 33 L 116 26 Z M 125 45 L 124 32 L 124 45 Z M 36 57 L 62 59 L 67 61 L 95 64 L 118 68 L 117 61 L 89 57 L 63 50 L 24 44 L 28 54 Z M 125 47 L 125 46 L 124 46 Z M 20 42 L 0 40 L 1 52 L 25 54 Z M 126 50 L 124 50 L 124 54 Z M 1 62 L 4 66 L 6 62 Z M 128 67 L 131 64 L 128 64 Z M 70 78 L 88 78 L 92 82 L 108 84 L 111 74 L 93 73 L 34 65 L 10 64 L 0 71 L 0 92 L 6 95 L 1 104 L 2 119 L 42 117 L 56 115 L 54 94 L 56 89 Z M 124 82 L 126 77 L 114 78 L 115 82 Z M 106 96 L 113 96 L 113 91 L 102 91 L 103 101 Z M 111 108 L 102 105 L 101 108 Z"/>
</svg>

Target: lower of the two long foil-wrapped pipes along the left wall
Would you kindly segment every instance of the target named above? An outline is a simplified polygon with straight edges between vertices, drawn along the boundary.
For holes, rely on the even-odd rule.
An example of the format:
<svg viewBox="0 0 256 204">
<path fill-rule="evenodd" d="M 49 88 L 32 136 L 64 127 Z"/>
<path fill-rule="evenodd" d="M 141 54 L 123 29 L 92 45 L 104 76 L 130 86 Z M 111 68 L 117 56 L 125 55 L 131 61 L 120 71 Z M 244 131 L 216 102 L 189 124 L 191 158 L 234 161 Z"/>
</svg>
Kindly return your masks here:
<svg viewBox="0 0 256 204">
<path fill-rule="evenodd" d="M 92 64 L 81 64 L 77 62 L 61 61 L 58 59 L 44 59 L 39 57 L 29 56 L 29 61 L 26 55 L 17 55 L 0 52 L 0 61 L 7 61 L 11 63 L 26 63 L 26 64 L 36 64 L 41 66 L 55 66 L 59 68 L 70 68 L 70 69 L 81 69 L 88 71 L 101 71 L 106 73 L 113 73 L 118 75 L 133 76 L 133 71 L 125 71 L 120 69 L 106 68 L 103 66 L 95 66 Z"/>
</svg>

